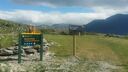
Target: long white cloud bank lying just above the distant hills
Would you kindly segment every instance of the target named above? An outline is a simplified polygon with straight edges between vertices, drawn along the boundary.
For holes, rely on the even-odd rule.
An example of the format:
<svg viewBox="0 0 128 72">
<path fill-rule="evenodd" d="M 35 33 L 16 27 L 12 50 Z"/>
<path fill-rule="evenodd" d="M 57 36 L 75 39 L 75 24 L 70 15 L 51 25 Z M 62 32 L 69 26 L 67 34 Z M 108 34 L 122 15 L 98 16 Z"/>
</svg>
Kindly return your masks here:
<svg viewBox="0 0 128 72">
<path fill-rule="evenodd" d="M 111 15 L 111 14 L 110 14 Z M 87 24 L 94 19 L 104 19 L 110 16 L 106 13 L 60 13 L 32 10 L 0 11 L 0 18 L 31 24 Z"/>
</svg>

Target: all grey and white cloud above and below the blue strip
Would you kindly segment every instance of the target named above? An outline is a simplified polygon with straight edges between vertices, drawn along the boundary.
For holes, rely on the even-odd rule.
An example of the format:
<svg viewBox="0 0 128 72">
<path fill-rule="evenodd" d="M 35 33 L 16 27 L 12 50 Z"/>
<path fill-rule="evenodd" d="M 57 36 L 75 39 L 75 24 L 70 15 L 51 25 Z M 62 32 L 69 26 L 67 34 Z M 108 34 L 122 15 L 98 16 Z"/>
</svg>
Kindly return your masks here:
<svg viewBox="0 0 128 72">
<path fill-rule="evenodd" d="M 0 18 L 31 24 L 87 24 L 94 19 L 105 19 L 117 13 L 128 13 L 128 0 L 12 0 L 18 4 L 50 7 L 90 7 L 94 12 L 61 13 L 33 10 L 0 11 Z"/>
</svg>

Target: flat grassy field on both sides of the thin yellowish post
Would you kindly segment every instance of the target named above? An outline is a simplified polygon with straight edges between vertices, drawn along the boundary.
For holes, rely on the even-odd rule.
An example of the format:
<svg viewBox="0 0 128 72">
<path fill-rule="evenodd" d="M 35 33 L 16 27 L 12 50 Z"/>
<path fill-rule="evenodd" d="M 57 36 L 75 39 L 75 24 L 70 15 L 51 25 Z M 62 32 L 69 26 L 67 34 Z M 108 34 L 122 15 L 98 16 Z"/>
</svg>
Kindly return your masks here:
<svg viewBox="0 0 128 72">
<path fill-rule="evenodd" d="M 50 48 L 58 57 L 72 55 L 72 36 L 45 35 L 49 42 L 55 42 Z M 128 68 L 128 40 L 95 35 L 77 36 L 76 55 L 94 61 L 107 61 Z"/>
</svg>

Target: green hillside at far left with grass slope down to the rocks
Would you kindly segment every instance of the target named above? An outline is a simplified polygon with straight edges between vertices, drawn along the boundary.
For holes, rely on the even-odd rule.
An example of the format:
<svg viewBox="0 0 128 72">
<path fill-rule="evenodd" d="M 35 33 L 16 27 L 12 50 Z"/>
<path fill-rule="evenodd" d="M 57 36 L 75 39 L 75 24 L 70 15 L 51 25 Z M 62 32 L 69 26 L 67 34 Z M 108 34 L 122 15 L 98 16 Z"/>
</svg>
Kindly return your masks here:
<svg viewBox="0 0 128 72">
<path fill-rule="evenodd" d="M 17 42 L 17 34 L 26 31 L 27 26 L 0 19 L 0 48 L 12 46 Z"/>
</svg>

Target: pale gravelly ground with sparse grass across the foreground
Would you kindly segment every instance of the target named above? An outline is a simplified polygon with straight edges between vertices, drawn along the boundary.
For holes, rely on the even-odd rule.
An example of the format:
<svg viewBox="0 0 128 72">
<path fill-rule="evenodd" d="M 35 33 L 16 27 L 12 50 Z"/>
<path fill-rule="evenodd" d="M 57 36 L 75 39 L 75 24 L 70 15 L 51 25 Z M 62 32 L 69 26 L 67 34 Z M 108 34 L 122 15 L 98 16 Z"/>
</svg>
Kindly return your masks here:
<svg viewBox="0 0 128 72">
<path fill-rule="evenodd" d="M 0 72 L 124 72 L 121 67 L 104 61 L 85 61 L 75 57 L 57 58 L 54 53 L 47 52 L 43 61 L 39 61 L 39 54 L 23 58 L 17 63 L 17 56 L 6 57 L 12 60 L 0 63 Z"/>
</svg>

